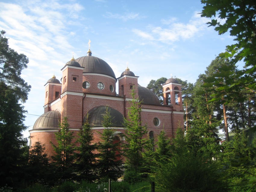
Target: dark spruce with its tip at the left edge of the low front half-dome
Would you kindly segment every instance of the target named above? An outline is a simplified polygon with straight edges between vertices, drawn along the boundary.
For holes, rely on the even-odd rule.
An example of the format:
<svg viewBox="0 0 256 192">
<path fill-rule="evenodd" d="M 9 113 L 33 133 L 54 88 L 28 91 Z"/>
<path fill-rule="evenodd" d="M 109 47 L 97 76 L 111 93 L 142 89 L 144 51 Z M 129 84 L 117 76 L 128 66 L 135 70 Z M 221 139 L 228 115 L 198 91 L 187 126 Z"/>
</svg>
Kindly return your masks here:
<svg viewBox="0 0 256 192">
<path fill-rule="evenodd" d="M 83 124 L 81 131 L 78 133 L 78 142 L 80 146 L 76 148 L 76 165 L 79 180 L 94 181 L 96 179 L 96 157 L 95 150 L 97 144 L 92 144 L 93 132 L 88 122 L 88 114 L 86 122 Z"/>
</svg>

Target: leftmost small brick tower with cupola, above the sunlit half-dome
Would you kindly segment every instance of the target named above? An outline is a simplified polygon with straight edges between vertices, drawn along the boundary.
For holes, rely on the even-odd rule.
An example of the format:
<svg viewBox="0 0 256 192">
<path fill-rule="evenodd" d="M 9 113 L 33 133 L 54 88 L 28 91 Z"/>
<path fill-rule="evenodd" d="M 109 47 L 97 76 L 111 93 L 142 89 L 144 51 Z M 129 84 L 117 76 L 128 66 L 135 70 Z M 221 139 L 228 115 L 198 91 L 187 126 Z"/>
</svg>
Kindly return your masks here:
<svg viewBox="0 0 256 192">
<path fill-rule="evenodd" d="M 45 113 L 48 112 L 48 104 L 60 97 L 61 82 L 56 79 L 55 75 L 45 84 Z"/>
</svg>

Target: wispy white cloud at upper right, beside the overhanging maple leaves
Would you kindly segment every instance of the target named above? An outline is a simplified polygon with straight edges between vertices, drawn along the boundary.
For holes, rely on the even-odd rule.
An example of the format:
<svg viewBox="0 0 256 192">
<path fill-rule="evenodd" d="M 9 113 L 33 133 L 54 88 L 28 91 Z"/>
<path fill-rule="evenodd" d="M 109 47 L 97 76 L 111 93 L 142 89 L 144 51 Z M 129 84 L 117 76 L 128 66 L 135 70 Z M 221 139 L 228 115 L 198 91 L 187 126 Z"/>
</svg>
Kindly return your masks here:
<svg viewBox="0 0 256 192">
<path fill-rule="evenodd" d="M 205 23 L 208 20 L 201 18 L 195 13 L 188 23 L 181 23 L 175 17 L 162 19 L 161 23 L 168 25 L 168 28 L 163 26 L 148 26 L 148 31 L 132 29 L 133 33 L 147 40 L 158 40 L 164 43 L 172 43 L 180 40 L 191 39 L 207 28 Z"/>
</svg>

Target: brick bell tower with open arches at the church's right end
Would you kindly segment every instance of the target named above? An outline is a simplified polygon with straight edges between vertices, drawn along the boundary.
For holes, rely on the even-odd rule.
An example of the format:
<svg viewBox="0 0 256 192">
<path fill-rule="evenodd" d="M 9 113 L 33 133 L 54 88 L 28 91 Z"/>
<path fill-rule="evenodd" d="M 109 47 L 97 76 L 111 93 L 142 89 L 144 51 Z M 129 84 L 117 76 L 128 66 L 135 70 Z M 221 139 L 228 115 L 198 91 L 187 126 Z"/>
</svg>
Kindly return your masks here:
<svg viewBox="0 0 256 192">
<path fill-rule="evenodd" d="M 172 105 L 173 110 L 183 111 L 181 84 L 171 77 L 163 85 L 164 105 Z"/>
</svg>

